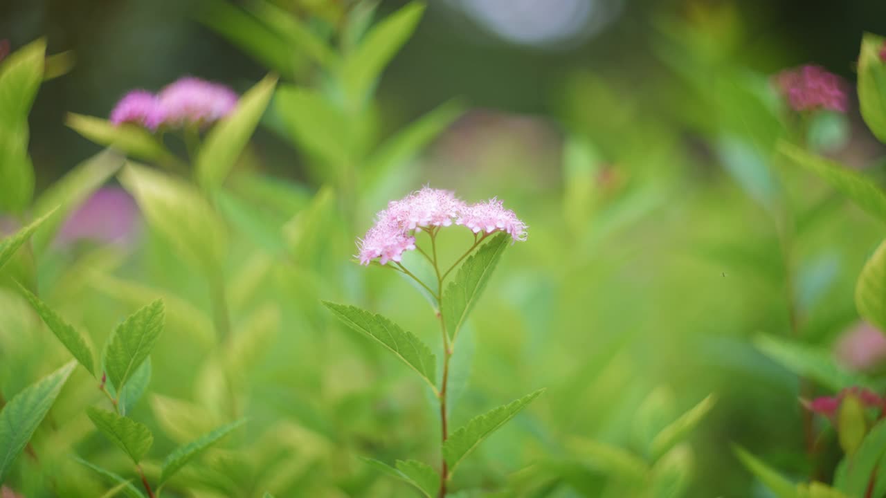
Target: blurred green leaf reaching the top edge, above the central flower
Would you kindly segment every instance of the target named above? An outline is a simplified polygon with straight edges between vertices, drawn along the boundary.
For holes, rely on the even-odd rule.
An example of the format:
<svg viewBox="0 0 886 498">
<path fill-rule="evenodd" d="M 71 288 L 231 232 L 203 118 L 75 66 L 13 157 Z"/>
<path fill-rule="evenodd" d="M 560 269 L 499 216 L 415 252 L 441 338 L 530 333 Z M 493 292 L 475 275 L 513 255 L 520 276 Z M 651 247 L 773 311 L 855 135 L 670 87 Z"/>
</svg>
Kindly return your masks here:
<svg viewBox="0 0 886 498">
<path fill-rule="evenodd" d="M 347 54 L 340 76 L 349 102 L 362 105 L 366 101 L 378 76 L 415 31 L 423 13 L 423 3 L 407 4 L 372 27 Z"/>
</svg>

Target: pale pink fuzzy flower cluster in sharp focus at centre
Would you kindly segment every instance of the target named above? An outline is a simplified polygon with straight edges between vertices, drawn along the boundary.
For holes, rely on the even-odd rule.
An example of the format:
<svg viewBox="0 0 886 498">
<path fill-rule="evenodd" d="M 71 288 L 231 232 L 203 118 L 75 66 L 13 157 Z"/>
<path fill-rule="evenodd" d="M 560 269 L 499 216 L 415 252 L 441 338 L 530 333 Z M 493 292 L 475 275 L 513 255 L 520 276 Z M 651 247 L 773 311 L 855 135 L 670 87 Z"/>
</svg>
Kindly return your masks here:
<svg viewBox="0 0 886 498">
<path fill-rule="evenodd" d="M 381 264 L 399 262 L 403 253 L 416 248 L 414 230 L 462 225 L 475 234 L 505 232 L 515 241 L 526 239 L 526 225 L 501 200 L 469 205 L 452 191 L 424 187 L 388 203 L 376 215 L 376 224 L 357 242 L 361 264 L 378 259 Z"/>
</svg>

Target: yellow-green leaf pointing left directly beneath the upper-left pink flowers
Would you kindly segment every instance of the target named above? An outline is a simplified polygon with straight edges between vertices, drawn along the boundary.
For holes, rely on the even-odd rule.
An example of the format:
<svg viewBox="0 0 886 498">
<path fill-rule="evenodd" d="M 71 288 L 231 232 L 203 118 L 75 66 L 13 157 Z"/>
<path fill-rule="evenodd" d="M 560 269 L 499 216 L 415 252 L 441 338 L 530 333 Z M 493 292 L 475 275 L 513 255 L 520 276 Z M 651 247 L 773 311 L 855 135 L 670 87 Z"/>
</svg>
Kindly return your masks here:
<svg viewBox="0 0 886 498">
<path fill-rule="evenodd" d="M 92 116 L 68 113 L 65 122 L 87 140 L 111 147 L 131 158 L 161 163 L 175 163 L 178 160 L 159 141 L 159 138 L 140 126 L 130 123 L 115 125 Z"/>
</svg>

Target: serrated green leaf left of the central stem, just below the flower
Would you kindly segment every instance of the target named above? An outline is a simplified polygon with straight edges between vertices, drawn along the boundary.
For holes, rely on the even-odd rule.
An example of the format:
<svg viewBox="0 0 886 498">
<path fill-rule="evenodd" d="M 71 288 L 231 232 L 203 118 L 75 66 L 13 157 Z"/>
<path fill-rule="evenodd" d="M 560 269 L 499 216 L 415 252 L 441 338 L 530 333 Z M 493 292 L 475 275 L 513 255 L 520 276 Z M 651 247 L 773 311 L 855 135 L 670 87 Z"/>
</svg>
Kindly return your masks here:
<svg viewBox="0 0 886 498">
<path fill-rule="evenodd" d="M 437 357 L 431 353 L 431 348 L 417 338 L 414 334 L 404 331 L 396 323 L 391 322 L 382 315 L 369 313 L 365 309 L 354 306 L 336 304 L 323 301 L 323 306 L 338 316 L 338 319 L 346 323 L 354 331 L 362 332 L 376 340 L 387 350 L 392 352 L 401 362 L 404 362 L 412 370 L 424 378 L 431 386 L 434 393 L 437 387 L 433 378 L 437 375 Z"/>
</svg>

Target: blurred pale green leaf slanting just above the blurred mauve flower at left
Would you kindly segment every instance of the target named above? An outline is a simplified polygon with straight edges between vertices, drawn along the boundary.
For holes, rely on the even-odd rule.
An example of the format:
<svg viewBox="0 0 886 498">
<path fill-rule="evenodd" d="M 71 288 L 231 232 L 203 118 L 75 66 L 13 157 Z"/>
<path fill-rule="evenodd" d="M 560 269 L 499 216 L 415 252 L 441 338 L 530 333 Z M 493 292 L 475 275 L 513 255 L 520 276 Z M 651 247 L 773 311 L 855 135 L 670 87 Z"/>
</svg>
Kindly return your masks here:
<svg viewBox="0 0 886 498">
<path fill-rule="evenodd" d="M 58 216 L 43 223 L 35 231 L 31 238 L 34 252 L 38 255 L 43 253 L 67 216 L 117 173 L 122 165 L 123 160 L 113 152 L 99 152 L 75 166 L 43 191 L 36 198 L 32 211 L 35 215 L 42 216 L 58 208 Z"/>
</svg>

